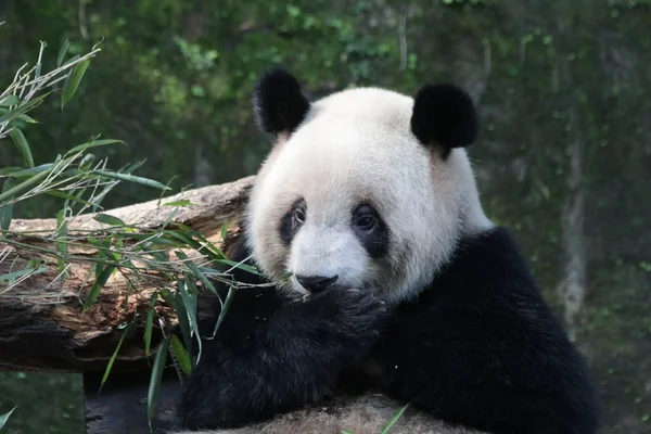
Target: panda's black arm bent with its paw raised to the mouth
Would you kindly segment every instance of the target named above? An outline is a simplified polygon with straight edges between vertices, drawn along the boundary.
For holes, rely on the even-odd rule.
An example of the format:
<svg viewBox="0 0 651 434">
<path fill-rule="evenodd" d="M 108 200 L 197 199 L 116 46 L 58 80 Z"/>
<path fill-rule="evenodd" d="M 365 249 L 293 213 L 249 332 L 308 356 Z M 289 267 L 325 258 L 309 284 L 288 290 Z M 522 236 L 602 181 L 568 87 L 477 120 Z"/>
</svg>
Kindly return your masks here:
<svg viewBox="0 0 651 434">
<path fill-rule="evenodd" d="M 180 403 L 183 427 L 237 427 L 319 401 L 372 347 L 383 309 L 362 292 L 286 303 L 275 288 L 239 290 L 203 341 Z"/>
</svg>

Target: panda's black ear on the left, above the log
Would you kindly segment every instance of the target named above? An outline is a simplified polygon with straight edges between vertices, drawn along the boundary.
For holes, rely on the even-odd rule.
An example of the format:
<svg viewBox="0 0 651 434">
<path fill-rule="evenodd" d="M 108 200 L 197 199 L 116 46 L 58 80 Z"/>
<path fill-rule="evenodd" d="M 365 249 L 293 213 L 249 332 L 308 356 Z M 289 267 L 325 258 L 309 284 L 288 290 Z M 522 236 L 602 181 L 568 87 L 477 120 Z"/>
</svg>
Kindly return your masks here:
<svg viewBox="0 0 651 434">
<path fill-rule="evenodd" d="M 309 106 L 296 77 L 283 69 L 265 72 L 253 92 L 256 123 L 263 131 L 272 135 L 292 132 Z"/>
</svg>

